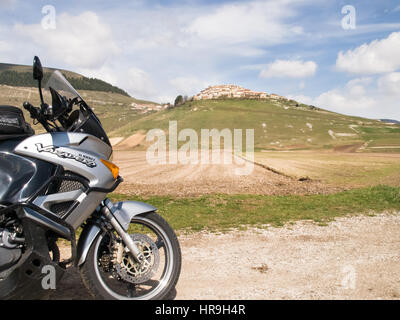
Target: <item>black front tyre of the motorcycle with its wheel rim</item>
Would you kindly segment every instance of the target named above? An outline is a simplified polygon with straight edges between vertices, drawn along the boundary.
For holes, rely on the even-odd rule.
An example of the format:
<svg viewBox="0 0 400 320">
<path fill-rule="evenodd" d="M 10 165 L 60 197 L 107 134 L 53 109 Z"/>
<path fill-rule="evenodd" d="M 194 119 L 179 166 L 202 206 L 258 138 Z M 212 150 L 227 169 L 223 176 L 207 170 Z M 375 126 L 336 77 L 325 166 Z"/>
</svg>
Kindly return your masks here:
<svg viewBox="0 0 400 320">
<path fill-rule="evenodd" d="M 148 283 L 154 283 L 154 288 L 151 290 L 149 289 L 148 292 L 146 292 L 142 289 L 138 290 L 138 285 L 132 285 L 125 281 L 125 279 L 115 279 L 115 270 L 112 275 L 111 272 L 110 274 L 104 272 L 101 267 L 100 257 L 102 251 L 104 251 L 105 243 L 110 237 L 107 233 L 101 233 L 94 240 L 89 249 L 86 261 L 80 268 L 83 283 L 95 299 L 160 300 L 168 298 L 171 291 L 175 288 L 180 275 L 182 263 L 181 250 L 175 232 L 161 216 L 154 212 L 135 216 L 131 221 L 130 229 L 137 230 L 138 226 L 141 226 L 142 230 L 146 227 L 147 234 L 149 234 L 149 230 L 151 230 L 151 232 L 157 236 L 157 243 L 159 243 L 160 252 L 161 249 L 163 249 L 162 251 L 164 252 L 165 257 L 163 259 L 163 270 L 160 272 L 160 279 L 151 279 L 147 281 Z M 110 255 L 112 256 L 112 252 Z M 112 279 L 112 277 L 114 277 L 114 279 Z M 109 284 L 109 281 L 112 281 L 113 283 Z M 124 294 L 120 290 L 115 289 L 115 283 L 121 285 L 122 288 L 126 285 L 131 289 L 127 289 L 129 292 Z M 145 285 L 145 283 L 143 285 Z M 134 293 L 132 294 L 132 292 Z M 139 292 L 137 296 L 135 296 L 136 292 Z M 141 292 L 143 292 L 143 294 L 140 294 Z"/>
</svg>

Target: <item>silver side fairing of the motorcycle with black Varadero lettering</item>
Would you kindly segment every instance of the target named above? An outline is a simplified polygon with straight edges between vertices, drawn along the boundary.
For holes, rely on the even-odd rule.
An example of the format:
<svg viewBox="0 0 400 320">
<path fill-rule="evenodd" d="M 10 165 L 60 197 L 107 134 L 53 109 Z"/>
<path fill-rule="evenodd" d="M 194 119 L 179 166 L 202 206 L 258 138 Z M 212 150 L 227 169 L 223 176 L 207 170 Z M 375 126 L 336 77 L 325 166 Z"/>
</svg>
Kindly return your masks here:
<svg viewBox="0 0 400 320">
<path fill-rule="evenodd" d="M 100 161 L 108 160 L 112 148 L 100 139 L 85 133 L 55 132 L 32 136 L 22 141 L 14 152 L 60 165 L 66 171 L 85 177 L 91 188 L 109 189 L 115 183 L 110 170 Z M 77 229 L 106 197 L 102 192 L 84 190 L 62 192 L 37 197 L 34 204 L 47 212 L 50 206 L 65 201 L 75 201 L 77 206 L 65 221 Z"/>
</svg>

